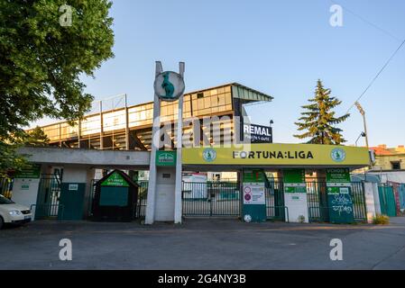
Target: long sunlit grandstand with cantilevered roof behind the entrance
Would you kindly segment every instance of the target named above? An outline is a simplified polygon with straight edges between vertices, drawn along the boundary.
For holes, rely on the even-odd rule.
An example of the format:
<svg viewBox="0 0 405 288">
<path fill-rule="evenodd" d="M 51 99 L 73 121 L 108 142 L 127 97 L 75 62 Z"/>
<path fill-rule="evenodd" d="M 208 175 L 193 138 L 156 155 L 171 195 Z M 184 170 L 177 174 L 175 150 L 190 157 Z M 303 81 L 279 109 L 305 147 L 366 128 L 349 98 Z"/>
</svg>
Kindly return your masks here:
<svg viewBox="0 0 405 288">
<path fill-rule="evenodd" d="M 272 96 L 237 83 L 219 85 L 184 95 L 183 120 L 198 118 L 201 130 L 206 130 L 204 117 L 218 116 L 221 137 L 224 130 L 235 134 L 235 116 L 246 116 L 245 103 L 271 102 Z M 126 102 L 126 101 L 125 101 Z M 176 121 L 178 102 L 161 103 L 161 121 Z M 102 103 L 100 103 L 100 107 Z M 60 121 L 41 127 L 51 139 L 51 146 L 60 148 L 96 148 L 109 150 L 150 150 L 152 140 L 153 103 L 142 103 L 91 113 L 72 126 Z M 184 132 L 192 125 L 184 127 Z M 216 128 L 213 128 L 216 129 Z M 174 127 L 170 132 L 172 145 L 176 143 Z M 215 145 L 214 139 L 209 139 Z"/>
</svg>

